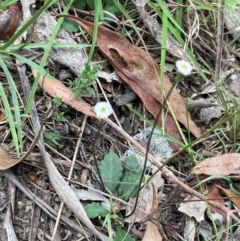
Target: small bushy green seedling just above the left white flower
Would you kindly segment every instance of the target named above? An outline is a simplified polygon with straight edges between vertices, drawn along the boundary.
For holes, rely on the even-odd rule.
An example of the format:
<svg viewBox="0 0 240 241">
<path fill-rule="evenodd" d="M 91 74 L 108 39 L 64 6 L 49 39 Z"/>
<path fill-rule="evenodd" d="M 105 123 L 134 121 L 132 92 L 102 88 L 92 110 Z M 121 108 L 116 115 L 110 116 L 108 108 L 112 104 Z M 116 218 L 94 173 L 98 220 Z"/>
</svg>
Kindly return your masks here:
<svg viewBox="0 0 240 241">
<path fill-rule="evenodd" d="M 91 67 L 87 62 L 85 64 L 85 69 L 78 74 L 78 77 L 70 82 L 70 86 L 74 95 L 78 98 L 81 98 L 83 94 L 94 95 L 95 91 L 90 87 L 93 82 L 97 79 L 97 72 L 99 66 Z"/>
</svg>

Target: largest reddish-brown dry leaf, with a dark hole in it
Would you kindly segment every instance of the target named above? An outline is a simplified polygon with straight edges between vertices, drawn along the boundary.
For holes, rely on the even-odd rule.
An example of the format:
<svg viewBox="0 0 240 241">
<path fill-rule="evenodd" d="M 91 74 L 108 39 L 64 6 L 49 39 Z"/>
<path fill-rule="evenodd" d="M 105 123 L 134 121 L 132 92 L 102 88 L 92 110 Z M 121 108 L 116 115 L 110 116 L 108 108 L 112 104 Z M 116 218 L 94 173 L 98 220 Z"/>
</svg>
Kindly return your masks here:
<svg viewBox="0 0 240 241">
<path fill-rule="evenodd" d="M 71 15 L 59 16 L 71 18 L 84 27 L 89 34 L 93 33 L 93 23 Z M 164 86 L 162 86 L 163 90 L 161 90 L 159 66 L 148 52 L 135 47 L 125 37 L 105 27 L 99 26 L 98 28 L 97 44 L 103 55 L 114 67 L 116 73 L 131 86 L 142 99 L 149 112 L 156 118 L 161 109 L 162 91 L 167 95 L 172 88 L 168 76 L 164 75 Z M 181 95 L 174 90 L 169 99 L 171 100 L 169 106 L 177 120 L 195 137 L 199 137 L 201 135 L 200 129 L 188 115 Z M 158 125 L 161 126 L 160 120 Z M 170 135 L 180 139 L 176 124 L 170 115 L 167 116 L 165 125 L 166 131 Z"/>
</svg>

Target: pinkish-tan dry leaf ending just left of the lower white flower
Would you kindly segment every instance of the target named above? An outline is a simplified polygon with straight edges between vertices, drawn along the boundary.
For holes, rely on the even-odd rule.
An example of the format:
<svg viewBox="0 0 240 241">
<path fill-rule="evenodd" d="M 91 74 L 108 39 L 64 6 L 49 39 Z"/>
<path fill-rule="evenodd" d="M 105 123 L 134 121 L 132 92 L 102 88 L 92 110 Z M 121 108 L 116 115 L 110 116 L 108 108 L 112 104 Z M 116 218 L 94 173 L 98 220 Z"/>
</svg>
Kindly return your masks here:
<svg viewBox="0 0 240 241">
<path fill-rule="evenodd" d="M 37 71 L 35 69 L 32 69 L 32 73 L 34 77 L 36 77 Z M 41 75 L 38 84 L 52 97 L 60 97 L 64 103 L 72 108 L 82 112 L 85 115 L 96 117 L 95 113 L 92 111 L 91 105 L 89 105 L 83 99 L 75 97 L 72 91 L 61 81 L 57 79 L 52 80 Z"/>
</svg>

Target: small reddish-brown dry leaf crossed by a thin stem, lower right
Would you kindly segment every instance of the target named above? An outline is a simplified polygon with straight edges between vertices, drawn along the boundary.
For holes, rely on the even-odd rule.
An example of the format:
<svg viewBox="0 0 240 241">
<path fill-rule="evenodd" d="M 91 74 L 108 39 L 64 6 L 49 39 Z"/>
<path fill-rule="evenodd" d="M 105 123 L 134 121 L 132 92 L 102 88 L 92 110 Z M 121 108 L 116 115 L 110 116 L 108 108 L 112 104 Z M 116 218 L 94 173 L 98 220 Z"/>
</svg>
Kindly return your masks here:
<svg viewBox="0 0 240 241">
<path fill-rule="evenodd" d="M 223 197 L 219 194 L 218 192 L 218 188 L 217 185 L 213 184 L 211 185 L 208 194 L 206 195 L 206 198 L 208 200 L 213 200 L 214 202 L 225 206 Z M 222 217 L 227 218 L 226 213 L 224 213 L 223 211 L 221 211 L 219 208 L 214 207 L 214 206 L 210 206 L 210 210 L 212 213 L 218 213 L 220 214 Z"/>
</svg>

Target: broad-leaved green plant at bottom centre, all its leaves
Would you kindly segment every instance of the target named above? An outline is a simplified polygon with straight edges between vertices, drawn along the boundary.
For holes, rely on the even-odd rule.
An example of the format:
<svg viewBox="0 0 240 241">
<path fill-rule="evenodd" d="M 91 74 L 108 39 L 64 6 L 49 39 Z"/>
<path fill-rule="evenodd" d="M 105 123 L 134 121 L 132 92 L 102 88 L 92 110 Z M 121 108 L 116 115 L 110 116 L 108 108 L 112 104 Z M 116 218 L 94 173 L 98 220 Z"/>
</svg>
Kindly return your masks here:
<svg viewBox="0 0 240 241">
<path fill-rule="evenodd" d="M 122 162 L 118 155 L 110 152 L 105 155 L 104 159 L 100 162 L 99 172 L 105 188 L 109 191 L 111 197 L 118 195 L 124 201 L 128 201 L 137 194 L 142 168 L 135 155 L 127 157 L 125 161 Z M 112 204 L 112 198 L 110 198 L 110 203 Z M 107 210 L 99 203 L 91 203 L 86 205 L 85 211 L 89 218 L 104 218 L 103 225 L 107 225 L 110 240 L 134 241 L 120 226 L 117 226 L 116 235 L 113 239 L 112 222 L 116 221 L 122 224 L 123 219 L 120 214 L 112 213 L 112 208 Z"/>
</svg>

